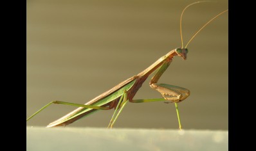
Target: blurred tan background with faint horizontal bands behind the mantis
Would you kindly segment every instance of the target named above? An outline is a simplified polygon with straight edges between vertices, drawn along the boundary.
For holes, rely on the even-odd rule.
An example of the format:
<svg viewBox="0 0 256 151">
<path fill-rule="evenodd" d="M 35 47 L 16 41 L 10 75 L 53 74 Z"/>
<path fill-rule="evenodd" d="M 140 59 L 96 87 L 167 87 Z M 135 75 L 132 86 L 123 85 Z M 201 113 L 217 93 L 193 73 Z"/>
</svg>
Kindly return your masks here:
<svg viewBox="0 0 256 151">
<path fill-rule="evenodd" d="M 179 17 L 194 1 L 27 1 L 27 116 L 51 100 L 84 104 L 181 47 Z M 228 1 L 191 6 L 183 40 L 228 9 Z M 159 83 L 191 94 L 179 103 L 184 129 L 228 129 L 228 13 L 206 26 L 174 58 Z M 150 79 L 150 78 L 149 78 Z M 161 97 L 145 81 L 134 99 Z M 76 107 L 52 105 L 27 122 L 46 126 Z M 107 127 L 114 110 L 69 127 Z M 128 103 L 115 127 L 178 129 L 174 104 Z"/>
</svg>

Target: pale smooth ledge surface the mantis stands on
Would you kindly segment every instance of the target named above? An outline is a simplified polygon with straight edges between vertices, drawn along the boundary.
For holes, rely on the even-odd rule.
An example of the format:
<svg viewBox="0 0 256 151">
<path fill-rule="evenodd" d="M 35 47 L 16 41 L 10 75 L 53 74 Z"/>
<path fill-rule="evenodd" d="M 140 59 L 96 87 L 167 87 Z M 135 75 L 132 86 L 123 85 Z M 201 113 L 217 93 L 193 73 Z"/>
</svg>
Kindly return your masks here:
<svg viewBox="0 0 256 151">
<path fill-rule="evenodd" d="M 27 127 L 26 150 L 228 150 L 228 131 Z"/>
</svg>

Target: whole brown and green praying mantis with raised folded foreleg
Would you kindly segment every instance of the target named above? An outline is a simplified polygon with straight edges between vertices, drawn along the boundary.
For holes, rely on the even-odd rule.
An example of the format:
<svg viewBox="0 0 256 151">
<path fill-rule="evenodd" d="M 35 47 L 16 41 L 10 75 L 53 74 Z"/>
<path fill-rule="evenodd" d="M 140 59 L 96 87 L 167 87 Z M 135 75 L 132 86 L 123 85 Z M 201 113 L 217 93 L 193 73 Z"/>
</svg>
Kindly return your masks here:
<svg viewBox="0 0 256 151">
<path fill-rule="evenodd" d="M 203 2 L 203 1 L 201 1 Z M 201 3 L 196 2 L 196 3 Z M 192 4 L 196 4 L 192 3 Z M 181 35 L 181 47 L 173 49 L 172 51 L 168 52 L 164 56 L 162 56 L 160 59 L 155 61 L 151 66 L 137 74 L 136 76 L 130 77 L 129 79 L 123 81 L 120 84 L 117 84 L 113 88 L 111 88 L 108 91 L 105 91 L 101 95 L 98 95 L 98 97 L 95 97 L 94 99 L 90 100 L 86 104 L 75 104 L 71 102 L 62 102 L 59 100 L 54 100 L 50 102 L 49 104 L 46 104 L 46 106 L 42 107 L 34 113 L 30 118 L 37 115 L 39 112 L 41 112 L 46 107 L 50 106 L 51 104 L 66 104 L 70 106 L 78 106 L 77 109 L 74 111 L 71 111 L 71 113 L 68 113 L 65 116 L 62 116 L 62 118 L 59 118 L 58 120 L 55 120 L 54 122 L 51 122 L 47 127 L 57 127 L 57 126 L 64 126 L 68 125 L 69 123 L 73 123 L 80 118 L 89 115 L 90 113 L 93 113 L 94 111 L 100 109 L 100 110 L 107 110 L 107 109 L 113 109 L 114 113 L 113 116 L 109 122 L 108 128 L 112 128 L 114 123 L 116 122 L 116 119 L 120 115 L 123 107 L 127 102 L 133 102 L 133 103 L 139 103 L 139 102 L 156 102 L 156 101 L 168 101 L 168 102 L 174 102 L 176 106 L 176 112 L 178 115 L 178 122 L 179 122 L 179 129 L 181 129 L 181 122 L 179 119 L 179 110 L 178 110 L 178 103 L 185 100 L 189 95 L 190 91 L 186 88 L 181 88 L 179 86 L 172 86 L 169 84 L 160 84 L 158 83 L 158 80 L 160 79 L 161 75 L 167 68 L 169 67 L 170 63 L 172 62 L 174 56 L 179 56 L 183 60 L 187 59 L 187 45 L 191 42 L 191 40 L 201 31 L 201 29 L 205 28 L 205 26 L 210 23 L 215 18 L 219 17 L 219 15 L 223 14 L 224 12 L 227 12 L 228 10 L 225 10 L 224 12 L 219 13 L 214 18 L 206 22 L 202 28 L 200 28 L 192 38 L 188 41 L 187 45 L 183 47 L 183 38 L 182 38 L 182 32 L 181 32 L 181 19 L 183 16 L 183 13 L 185 10 L 191 6 L 192 4 L 189 4 L 187 7 L 184 8 L 183 12 L 181 13 L 180 18 L 180 35 Z M 133 100 L 134 95 L 136 95 L 136 92 L 140 89 L 144 81 L 149 77 L 153 72 L 156 73 L 152 77 L 149 85 L 154 90 L 157 90 L 161 93 L 163 98 L 160 99 L 139 99 L 139 100 Z M 118 111 L 119 110 L 119 111 Z"/>
</svg>

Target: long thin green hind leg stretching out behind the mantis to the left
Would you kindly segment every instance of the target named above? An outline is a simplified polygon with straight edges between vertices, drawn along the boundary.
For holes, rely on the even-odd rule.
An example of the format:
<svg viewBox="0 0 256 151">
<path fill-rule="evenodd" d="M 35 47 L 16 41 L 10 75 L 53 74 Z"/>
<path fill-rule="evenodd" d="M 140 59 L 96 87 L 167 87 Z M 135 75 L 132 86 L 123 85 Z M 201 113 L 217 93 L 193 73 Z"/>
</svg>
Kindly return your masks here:
<svg viewBox="0 0 256 151">
<path fill-rule="evenodd" d="M 51 104 L 64 104 L 64 105 L 69 105 L 69 106 L 78 106 L 78 107 L 85 107 L 85 108 L 90 108 L 90 109 L 102 109 L 102 110 L 107 110 L 109 107 L 104 107 L 104 106 L 91 106 L 91 105 L 84 105 L 84 104 L 76 104 L 76 103 L 70 103 L 70 102 L 62 102 L 59 100 L 53 100 L 50 103 L 46 104 L 46 106 L 42 107 L 39 109 L 36 113 L 34 113 L 32 116 L 30 116 L 26 121 L 30 120 L 33 116 L 37 115 L 40 113 L 43 109 L 46 107 L 50 106 Z"/>
</svg>

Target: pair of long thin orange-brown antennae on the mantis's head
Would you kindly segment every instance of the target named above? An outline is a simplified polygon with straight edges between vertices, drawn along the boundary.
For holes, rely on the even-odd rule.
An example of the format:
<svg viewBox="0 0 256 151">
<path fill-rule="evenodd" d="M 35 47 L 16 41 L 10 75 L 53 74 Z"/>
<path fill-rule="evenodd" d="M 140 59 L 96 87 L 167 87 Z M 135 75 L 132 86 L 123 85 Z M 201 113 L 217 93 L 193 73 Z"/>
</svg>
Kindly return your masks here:
<svg viewBox="0 0 256 151">
<path fill-rule="evenodd" d="M 182 13 L 181 13 L 181 19 L 180 19 L 180 21 L 179 21 L 179 28 L 180 28 L 180 33 L 181 33 L 181 48 L 183 48 L 183 38 L 182 38 L 182 31 L 181 31 L 181 29 L 182 29 L 182 28 L 181 28 L 181 20 L 182 20 L 183 13 L 185 12 L 185 10 L 186 10 L 189 6 L 191 6 L 191 5 L 193 5 L 193 4 L 197 4 L 197 3 L 204 3 L 204 2 L 210 2 L 210 1 L 197 1 L 197 2 L 192 3 L 192 4 L 188 4 L 188 6 L 183 9 L 183 11 L 182 11 Z M 221 14 L 223 14 L 224 12 L 227 12 L 227 11 L 228 11 L 228 10 L 225 10 L 225 11 L 219 13 L 219 14 L 216 15 L 214 18 L 212 18 L 212 19 L 210 19 L 208 22 L 206 22 L 206 24 L 205 24 L 204 26 L 202 26 L 202 27 L 192 36 L 192 38 L 190 38 L 190 40 L 188 41 L 188 43 L 187 43 L 187 45 L 185 46 L 185 48 L 187 48 L 188 44 L 189 44 L 189 43 L 191 42 L 191 40 L 197 35 L 197 33 L 199 33 L 199 31 L 201 31 L 203 28 L 205 28 L 205 26 L 206 26 L 207 24 L 209 24 L 212 20 L 216 19 L 217 17 L 219 17 L 219 15 L 221 15 Z"/>
</svg>

